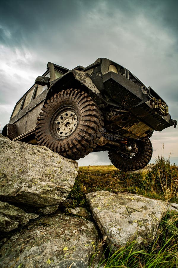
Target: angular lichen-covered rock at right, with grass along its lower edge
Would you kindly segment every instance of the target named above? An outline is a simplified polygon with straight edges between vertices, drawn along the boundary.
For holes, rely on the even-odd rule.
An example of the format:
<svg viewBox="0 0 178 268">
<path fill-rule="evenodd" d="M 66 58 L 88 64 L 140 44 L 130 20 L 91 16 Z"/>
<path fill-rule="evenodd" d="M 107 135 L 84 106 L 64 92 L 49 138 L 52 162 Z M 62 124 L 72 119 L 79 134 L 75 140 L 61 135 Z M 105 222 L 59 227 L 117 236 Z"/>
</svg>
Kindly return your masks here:
<svg viewBox="0 0 178 268">
<path fill-rule="evenodd" d="M 150 243 L 168 209 L 161 201 L 134 194 L 98 191 L 86 194 L 86 199 L 101 233 L 117 246 L 134 240 L 138 245 Z"/>
</svg>

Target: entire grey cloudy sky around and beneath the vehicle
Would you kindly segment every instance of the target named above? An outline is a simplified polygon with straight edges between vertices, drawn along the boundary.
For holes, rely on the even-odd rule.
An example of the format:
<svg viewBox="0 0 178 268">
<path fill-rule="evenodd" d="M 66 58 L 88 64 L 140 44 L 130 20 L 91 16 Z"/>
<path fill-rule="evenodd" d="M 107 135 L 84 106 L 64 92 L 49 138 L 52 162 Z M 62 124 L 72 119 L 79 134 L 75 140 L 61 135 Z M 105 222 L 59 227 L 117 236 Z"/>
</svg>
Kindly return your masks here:
<svg viewBox="0 0 178 268">
<path fill-rule="evenodd" d="M 48 61 L 72 69 L 98 57 L 128 68 L 151 86 L 178 119 L 178 1 L 6 0 L 0 9 L 0 124 L 46 70 Z M 153 158 L 171 153 L 178 164 L 177 129 L 156 132 Z M 164 150 L 163 150 L 164 144 Z M 80 165 L 108 164 L 106 152 Z"/>
</svg>

